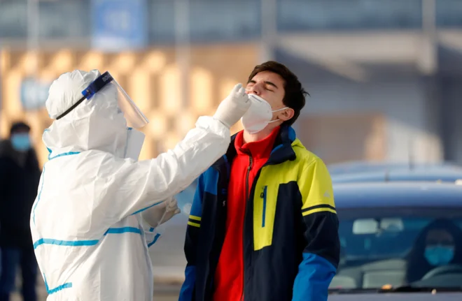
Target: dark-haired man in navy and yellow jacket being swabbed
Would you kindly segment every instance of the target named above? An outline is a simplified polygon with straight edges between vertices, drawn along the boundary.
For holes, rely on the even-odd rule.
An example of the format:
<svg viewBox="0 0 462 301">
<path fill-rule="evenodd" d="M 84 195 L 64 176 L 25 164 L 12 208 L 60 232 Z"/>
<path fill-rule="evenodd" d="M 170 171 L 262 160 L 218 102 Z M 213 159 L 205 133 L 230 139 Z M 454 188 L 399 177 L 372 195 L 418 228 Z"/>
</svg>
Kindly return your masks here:
<svg viewBox="0 0 462 301">
<path fill-rule="evenodd" d="M 276 61 L 255 66 L 244 131 L 199 178 L 181 301 L 327 300 L 339 263 L 325 164 L 291 125 L 306 91 Z"/>
</svg>

